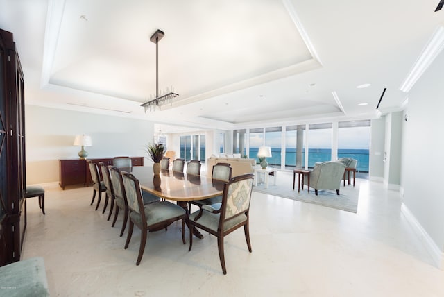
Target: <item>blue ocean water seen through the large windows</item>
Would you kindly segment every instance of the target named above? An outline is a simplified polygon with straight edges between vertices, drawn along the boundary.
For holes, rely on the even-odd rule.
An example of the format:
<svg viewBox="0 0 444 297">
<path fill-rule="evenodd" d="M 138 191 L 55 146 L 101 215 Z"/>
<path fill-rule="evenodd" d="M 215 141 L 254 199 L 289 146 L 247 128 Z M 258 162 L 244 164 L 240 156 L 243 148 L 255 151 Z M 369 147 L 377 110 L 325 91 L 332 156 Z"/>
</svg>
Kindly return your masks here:
<svg viewBox="0 0 444 297">
<path fill-rule="evenodd" d="M 257 159 L 259 148 L 250 148 L 248 155 Z M 330 148 L 309 148 L 308 167 L 314 167 L 316 162 L 332 160 L 332 150 Z M 266 162 L 271 166 L 280 166 L 281 149 L 271 148 L 271 158 L 266 158 Z M 338 158 L 353 158 L 358 160 L 357 171 L 368 172 L 369 151 L 368 149 L 338 149 Z M 257 159 L 257 162 L 259 160 Z M 285 166 L 296 167 L 296 148 L 287 148 L 285 150 Z M 305 167 L 305 150 L 302 151 L 302 167 Z"/>
</svg>

